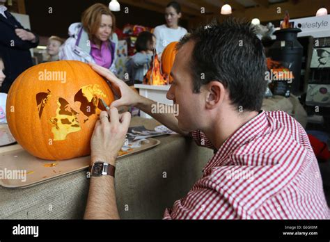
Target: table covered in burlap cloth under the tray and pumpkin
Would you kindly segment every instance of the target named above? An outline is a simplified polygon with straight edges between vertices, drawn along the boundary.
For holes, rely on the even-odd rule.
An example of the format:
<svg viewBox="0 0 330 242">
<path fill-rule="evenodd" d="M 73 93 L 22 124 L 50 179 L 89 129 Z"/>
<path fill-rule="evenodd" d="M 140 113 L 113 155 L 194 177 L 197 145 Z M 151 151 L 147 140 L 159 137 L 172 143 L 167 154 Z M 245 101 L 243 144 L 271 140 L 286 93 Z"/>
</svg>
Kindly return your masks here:
<svg viewBox="0 0 330 242">
<path fill-rule="evenodd" d="M 158 122 L 132 118 L 131 126 L 153 129 Z M 120 218 L 162 218 L 202 175 L 212 150 L 180 135 L 157 137 L 152 150 L 124 157 L 116 164 L 116 198 Z M 15 145 L 1 147 L 14 149 Z M 1 156 L 0 156 L 1 157 Z M 0 161 L 1 163 L 1 161 Z M 0 187 L 1 219 L 83 218 L 89 180 L 86 170 L 29 188 Z"/>
</svg>

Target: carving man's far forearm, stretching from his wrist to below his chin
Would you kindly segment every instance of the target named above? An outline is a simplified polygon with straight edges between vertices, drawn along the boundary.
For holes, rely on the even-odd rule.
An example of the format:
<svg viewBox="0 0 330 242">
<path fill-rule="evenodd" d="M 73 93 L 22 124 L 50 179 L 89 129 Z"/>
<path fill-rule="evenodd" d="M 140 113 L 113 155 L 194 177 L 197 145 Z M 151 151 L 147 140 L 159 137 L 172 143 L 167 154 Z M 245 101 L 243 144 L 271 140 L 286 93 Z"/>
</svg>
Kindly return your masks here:
<svg viewBox="0 0 330 242">
<path fill-rule="evenodd" d="M 173 113 L 152 113 L 152 104 L 157 105 L 157 102 L 141 96 L 139 103 L 136 104 L 136 108 L 139 108 L 141 111 L 148 113 L 148 115 L 152 116 L 152 118 L 155 118 L 155 120 L 158 122 L 164 124 L 166 127 L 168 127 L 168 129 L 182 134 L 183 136 L 187 136 L 189 134 L 188 132 L 182 131 L 179 128 L 178 119 L 175 118 Z"/>
</svg>

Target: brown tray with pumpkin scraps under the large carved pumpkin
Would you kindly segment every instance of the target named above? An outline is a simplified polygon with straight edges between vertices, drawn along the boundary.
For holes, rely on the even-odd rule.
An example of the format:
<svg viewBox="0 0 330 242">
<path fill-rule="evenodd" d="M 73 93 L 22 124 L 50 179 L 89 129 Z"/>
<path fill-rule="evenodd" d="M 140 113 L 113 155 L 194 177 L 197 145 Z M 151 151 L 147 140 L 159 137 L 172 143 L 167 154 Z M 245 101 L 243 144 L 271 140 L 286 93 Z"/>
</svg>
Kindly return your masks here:
<svg viewBox="0 0 330 242">
<path fill-rule="evenodd" d="M 143 152 L 160 144 L 155 138 L 148 138 L 149 143 L 143 143 L 136 148 L 118 156 L 118 159 Z M 32 156 L 20 145 L 10 145 L 0 148 L 0 171 L 6 172 L 6 176 L 0 173 L 0 186 L 6 188 L 26 188 L 42 182 L 68 175 L 79 170 L 88 168 L 91 156 L 83 156 L 66 161 L 46 161 Z M 6 170 L 5 170 L 6 169 Z M 9 173 L 13 176 L 16 172 L 16 179 L 8 179 Z M 19 174 L 19 171 L 23 171 Z M 26 170 L 26 176 L 24 176 Z M 9 171 L 9 172 L 8 172 Z M 7 179 L 4 179 L 7 178 Z"/>
</svg>

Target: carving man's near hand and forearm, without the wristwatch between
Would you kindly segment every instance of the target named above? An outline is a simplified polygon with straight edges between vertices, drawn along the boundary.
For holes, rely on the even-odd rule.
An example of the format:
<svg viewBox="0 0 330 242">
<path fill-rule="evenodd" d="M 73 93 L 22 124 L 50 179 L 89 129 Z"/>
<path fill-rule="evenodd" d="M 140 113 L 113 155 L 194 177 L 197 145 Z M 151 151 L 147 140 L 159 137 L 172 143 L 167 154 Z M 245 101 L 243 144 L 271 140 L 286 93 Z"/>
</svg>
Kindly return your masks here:
<svg viewBox="0 0 330 242">
<path fill-rule="evenodd" d="M 109 121 L 110 118 L 110 121 Z M 118 151 L 123 146 L 130 113 L 119 114 L 117 108 L 100 113 L 91 139 L 91 161 L 104 161 L 115 166 Z M 85 219 L 118 219 L 114 177 L 91 177 Z"/>
</svg>

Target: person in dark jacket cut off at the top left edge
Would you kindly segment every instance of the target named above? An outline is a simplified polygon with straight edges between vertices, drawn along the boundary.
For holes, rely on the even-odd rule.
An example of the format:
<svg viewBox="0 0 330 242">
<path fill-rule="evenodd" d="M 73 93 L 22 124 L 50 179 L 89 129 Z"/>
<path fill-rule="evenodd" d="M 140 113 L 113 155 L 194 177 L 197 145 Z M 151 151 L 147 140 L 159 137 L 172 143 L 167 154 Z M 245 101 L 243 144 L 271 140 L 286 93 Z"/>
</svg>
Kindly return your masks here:
<svg viewBox="0 0 330 242">
<path fill-rule="evenodd" d="M 39 38 L 29 29 L 24 29 L 4 3 L 6 0 L 0 0 L 0 55 L 5 63 L 6 80 L 0 92 L 8 93 L 17 76 L 32 66 L 29 49 L 38 46 Z"/>
</svg>

